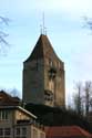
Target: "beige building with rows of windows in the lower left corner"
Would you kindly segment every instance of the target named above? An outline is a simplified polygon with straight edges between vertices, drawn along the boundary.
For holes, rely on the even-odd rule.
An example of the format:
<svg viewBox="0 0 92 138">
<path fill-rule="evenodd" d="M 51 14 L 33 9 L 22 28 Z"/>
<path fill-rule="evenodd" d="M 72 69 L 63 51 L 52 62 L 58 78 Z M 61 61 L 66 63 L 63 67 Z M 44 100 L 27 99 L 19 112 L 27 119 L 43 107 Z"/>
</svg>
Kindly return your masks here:
<svg viewBox="0 0 92 138">
<path fill-rule="evenodd" d="M 0 106 L 0 138 L 45 138 L 37 117 L 20 106 Z"/>
</svg>

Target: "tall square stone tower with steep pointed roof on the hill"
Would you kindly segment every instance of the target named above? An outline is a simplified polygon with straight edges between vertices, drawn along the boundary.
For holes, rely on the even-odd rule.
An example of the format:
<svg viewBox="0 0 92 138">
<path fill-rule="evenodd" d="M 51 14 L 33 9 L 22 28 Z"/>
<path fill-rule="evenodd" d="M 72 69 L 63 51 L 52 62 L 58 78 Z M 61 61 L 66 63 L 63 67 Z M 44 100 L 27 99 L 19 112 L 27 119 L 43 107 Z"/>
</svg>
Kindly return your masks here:
<svg viewBox="0 0 92 138">
<path fill-rule="evenodd" d="M 23 62 L 23 102 L 65 105 L 64 63 L 44 34 L 40 35 L 31 55 Z"/>
</svg>

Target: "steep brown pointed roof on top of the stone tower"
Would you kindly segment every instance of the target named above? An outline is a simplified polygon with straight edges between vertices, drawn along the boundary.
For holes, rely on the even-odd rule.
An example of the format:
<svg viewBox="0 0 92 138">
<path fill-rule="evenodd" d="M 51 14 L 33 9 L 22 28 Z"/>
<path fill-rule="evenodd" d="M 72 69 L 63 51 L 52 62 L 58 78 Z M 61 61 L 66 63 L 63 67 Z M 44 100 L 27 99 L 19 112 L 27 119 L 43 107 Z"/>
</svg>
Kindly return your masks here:
<svg viewBox="0 0 92 138">
<path fill-rule="evenodd" d="M 37 59 L 54 59 L 58 57 L 47 35 L 41 34 L 31 55 L 27 59 L 25 62 L 37 60 Z"/>
</svg>

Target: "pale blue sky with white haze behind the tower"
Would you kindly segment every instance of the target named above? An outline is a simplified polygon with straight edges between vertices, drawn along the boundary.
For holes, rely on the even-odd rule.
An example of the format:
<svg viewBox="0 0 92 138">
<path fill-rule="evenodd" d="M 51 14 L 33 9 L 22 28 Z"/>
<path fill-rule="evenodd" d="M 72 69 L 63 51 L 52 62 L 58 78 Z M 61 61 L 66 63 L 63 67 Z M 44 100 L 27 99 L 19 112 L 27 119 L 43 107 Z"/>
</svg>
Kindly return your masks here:
<svg viewBox="0 0 92 138">
<path fill-rule="evenodd" d="M 0 56 L 0 88 L 22 95 L 22 63 L 41 33 L 43 11 L 47 35 L 65 65 L 69 102 L 75 82 L 92 81 L 92 32 L 83 20 L 92 18 L 92 0 L 0 0 L 0 15 L 10 19 L 4 31 L 11 45 Z"/>
</svg>

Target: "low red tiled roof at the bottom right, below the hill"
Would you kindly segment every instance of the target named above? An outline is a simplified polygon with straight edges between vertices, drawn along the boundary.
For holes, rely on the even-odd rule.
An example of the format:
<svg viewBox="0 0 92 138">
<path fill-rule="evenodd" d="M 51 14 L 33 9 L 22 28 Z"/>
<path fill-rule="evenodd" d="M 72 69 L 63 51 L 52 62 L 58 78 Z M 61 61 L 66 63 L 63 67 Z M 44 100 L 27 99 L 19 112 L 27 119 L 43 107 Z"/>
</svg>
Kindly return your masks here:
<svg viewBox="0 0 92 138">
<path fill-rule="evenodd" d="M 78 126 L 45 127 L 47 138 L 92 138 L 92 135 Z"/>
</svg>

